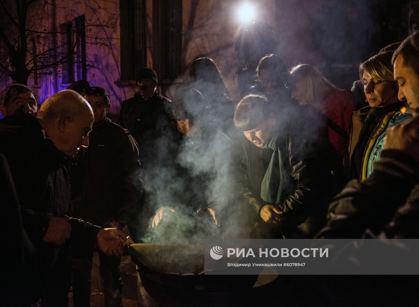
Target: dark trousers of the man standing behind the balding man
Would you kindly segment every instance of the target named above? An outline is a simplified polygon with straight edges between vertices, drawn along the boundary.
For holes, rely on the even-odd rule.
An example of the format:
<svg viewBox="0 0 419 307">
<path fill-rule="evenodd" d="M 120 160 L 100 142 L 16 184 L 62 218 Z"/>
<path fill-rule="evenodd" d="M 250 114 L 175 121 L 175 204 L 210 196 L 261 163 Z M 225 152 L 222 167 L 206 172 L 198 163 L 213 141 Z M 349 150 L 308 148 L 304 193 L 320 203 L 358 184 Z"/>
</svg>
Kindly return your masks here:
<svg viewBox="0 0 419 307">
<path fill-rule="evenodd" d="M 99 251 L 99 271 L 103 278 L 105 307 L 122 307 L 121 256 L 108 257 Z M 73 302 L 75 307 L 89 307 L 92 257 L 73 259 Z"/>
</svg>

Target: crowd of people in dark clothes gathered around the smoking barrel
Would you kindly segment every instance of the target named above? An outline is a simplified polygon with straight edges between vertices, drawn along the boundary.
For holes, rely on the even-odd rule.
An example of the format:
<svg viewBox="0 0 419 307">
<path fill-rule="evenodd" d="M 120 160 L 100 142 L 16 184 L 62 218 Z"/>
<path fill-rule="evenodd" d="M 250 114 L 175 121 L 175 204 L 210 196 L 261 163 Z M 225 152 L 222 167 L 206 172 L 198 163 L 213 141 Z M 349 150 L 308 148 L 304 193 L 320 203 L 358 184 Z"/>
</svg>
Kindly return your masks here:
<svg viewBox="0 0 419 307">
<path fill-rule="evenodd" d="M 89 306 L 98 251 L 105 305 L 122 306 L 125 226 L 137 243 L 417 238 L 419 32 L 359 72 L 362 99 L 266 55 L 235 103 L 207 57 L 173 100 L 142 68 L 117 123 L 107 91 L 86 81 L 39 110 L 33 89 L 8 86 L 0 195 L 16 254 L 5 302 L 68 306 L 72 284 L 75 306 Z"/>
</svg>

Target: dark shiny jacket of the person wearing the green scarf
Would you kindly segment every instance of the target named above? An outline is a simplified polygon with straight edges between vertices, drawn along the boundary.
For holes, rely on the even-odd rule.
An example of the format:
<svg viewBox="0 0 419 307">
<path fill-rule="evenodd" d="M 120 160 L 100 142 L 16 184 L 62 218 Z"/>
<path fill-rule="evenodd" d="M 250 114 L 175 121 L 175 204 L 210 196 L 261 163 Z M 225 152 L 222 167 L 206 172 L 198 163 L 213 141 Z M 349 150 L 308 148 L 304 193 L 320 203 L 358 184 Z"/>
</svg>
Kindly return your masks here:
<svg viewBox="0 0 419 307">
<path fill-rule="evenodd" d="M 326 215 L 330 195 L 323 186 L 330 187 L 330 173 L 326 169 L 322 169 L 316 155 L 304 146 L 303 139 L 288 135 L 286 138 L 278 140 L 284 172 L 277 176 L 279 176 L 279 180 L 285 182 L 282 201 L 274 204 L 261 199 L 261 182 L 269 165 L 272 150 L 256 148 L 248 140 L 243 141 L 243 159 L 238 180 L 239 189 L 245 197 L 246 203 L 256 213 L 257 220 L 260 221 L 261 208 L 266 204 L 277 206 L 284 212 L 280 224 L 272 226 L 273 237 L 278 234 L 312 237 L 316 233 L 313 223 L 321 225 L 323 217 Z M 303 151 L 303 148 L 306 152 Z M 266 225 L 266 223 L 262 224 Z M 269 226 L 271 225 L 269 224 Z"/>
</svg>

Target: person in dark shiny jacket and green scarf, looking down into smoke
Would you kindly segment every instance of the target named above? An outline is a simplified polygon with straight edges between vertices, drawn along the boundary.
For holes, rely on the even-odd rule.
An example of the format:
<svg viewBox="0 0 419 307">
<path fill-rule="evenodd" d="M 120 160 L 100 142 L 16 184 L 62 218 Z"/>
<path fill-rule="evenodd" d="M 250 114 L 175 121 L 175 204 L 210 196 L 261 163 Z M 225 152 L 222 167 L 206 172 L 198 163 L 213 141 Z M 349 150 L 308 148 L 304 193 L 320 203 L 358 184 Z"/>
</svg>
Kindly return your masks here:
<svg viewBox="0 0 419 307">
<path fill-rule="evenodd" d="M 285 129 L 280 117 L 270 112 L 264 96 L 243 98 L 234 122 L 246 142 L 267 151 L 243 146 L 239 187 L 259 220 L 256 237 L 312 237 L 323 225 L 328 193 L 321 186 L 328 185 L 330 174 L 321 170 L 308 142 Z"/>
</svg>

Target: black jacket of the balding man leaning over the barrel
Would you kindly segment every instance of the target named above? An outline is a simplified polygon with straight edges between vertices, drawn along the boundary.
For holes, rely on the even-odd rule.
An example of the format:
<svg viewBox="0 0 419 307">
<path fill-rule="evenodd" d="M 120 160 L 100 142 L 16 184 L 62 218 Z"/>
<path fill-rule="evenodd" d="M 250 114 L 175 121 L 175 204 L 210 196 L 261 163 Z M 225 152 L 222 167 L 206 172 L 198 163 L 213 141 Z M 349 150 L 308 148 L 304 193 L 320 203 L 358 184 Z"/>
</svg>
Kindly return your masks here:
<svg viewBox="0 0 419 307">
<path fill-rule="evenodd" d="M 70 205 L 68 157 L 44 136 L 34 116 L 18 112 L 0 120 L 0 154 L 10 167 L 22 224 L 36 253 L 34 259 L 25 263 L 21 287 L 14 289 L 16 299 L 24 301 L 21 305 L 30 305 L 41 296 L 59 250 L 41 241 L 48 229 L 48 216 L 68 219 L 72 231 L 67 242 L 85 249 L 96 245 L 100 228 L 65 216 Z"/>
</svg>

